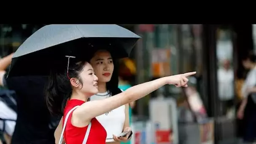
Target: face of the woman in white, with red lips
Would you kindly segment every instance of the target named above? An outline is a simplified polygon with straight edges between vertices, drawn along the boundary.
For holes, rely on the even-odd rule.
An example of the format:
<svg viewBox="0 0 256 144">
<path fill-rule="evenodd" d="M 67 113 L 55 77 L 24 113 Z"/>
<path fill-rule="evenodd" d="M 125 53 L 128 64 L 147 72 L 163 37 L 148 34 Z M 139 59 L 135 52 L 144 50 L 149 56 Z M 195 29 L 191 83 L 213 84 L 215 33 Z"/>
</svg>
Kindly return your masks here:
<svg viewBox="0 0 256 144">
<path fill-rule="evenodd" d="M 111 80 L 114 70 L 112 56 L 108 51 L 97 51 L 90 61 L 96 76 L 99 78 L 98 82 L 107 83 Z"/>
</svg>

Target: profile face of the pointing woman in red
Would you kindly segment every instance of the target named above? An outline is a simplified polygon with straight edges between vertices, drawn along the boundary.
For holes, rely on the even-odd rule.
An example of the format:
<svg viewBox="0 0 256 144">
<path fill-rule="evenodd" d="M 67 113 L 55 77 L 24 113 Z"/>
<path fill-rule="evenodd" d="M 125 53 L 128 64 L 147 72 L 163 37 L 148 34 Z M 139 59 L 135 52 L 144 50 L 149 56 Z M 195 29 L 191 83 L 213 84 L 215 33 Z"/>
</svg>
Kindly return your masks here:
<svg viewBox="0 0 256 144">
<path fill-rule="evenodd" d="M 90 96 L 99 92 L 97 85 L 98 77 L 96 77 L 96 75 L 94 74 L 91 64 L 86 62 L 83 71 L 79 74 L 79 76 L 81 81 L 74 78 L 72 78 L 73 80 L 71 80 L 72 85 L 75 86 L 79 91 L 82 91 L 82 93 Z"/>
</svg>

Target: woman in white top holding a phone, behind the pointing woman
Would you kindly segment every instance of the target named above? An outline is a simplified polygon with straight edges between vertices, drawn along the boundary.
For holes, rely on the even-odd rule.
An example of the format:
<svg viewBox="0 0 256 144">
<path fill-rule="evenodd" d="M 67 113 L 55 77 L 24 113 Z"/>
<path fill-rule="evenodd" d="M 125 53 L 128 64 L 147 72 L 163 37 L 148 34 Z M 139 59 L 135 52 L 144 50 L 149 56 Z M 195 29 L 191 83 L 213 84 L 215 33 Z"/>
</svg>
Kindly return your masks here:
<svg viewBox="0 0 256 144">
<path fill-rule="evenodd" d="M 122 91 L 118 88 L 118 69 L 115 58 L 112 58 L 109 51 L 98 50 L 93 54 L 90 61 L 95 75 L 98 77 L 99 93 L 91 96 L 91 101 L 106 99 L 114 96 Z M 115 67 L 115 68 L 114 68 Z M 97 116 L 97 120 L 107 131 L 107 144 L 120 144 L 121 141 L 126 142 L 130 133 L 124 138 L 117 138 L 123 131 L 131 130 L 129 127 L 129 105 L 125 104 L 121 107 Z"/>
</svg>

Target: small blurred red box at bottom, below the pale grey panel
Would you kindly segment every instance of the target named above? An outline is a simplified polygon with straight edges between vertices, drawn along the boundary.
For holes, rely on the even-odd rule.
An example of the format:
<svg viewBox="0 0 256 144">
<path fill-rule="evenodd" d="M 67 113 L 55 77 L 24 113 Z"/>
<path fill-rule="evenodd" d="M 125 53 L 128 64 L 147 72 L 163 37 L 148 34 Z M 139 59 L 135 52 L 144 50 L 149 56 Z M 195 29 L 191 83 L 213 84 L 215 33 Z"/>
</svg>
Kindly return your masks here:
<svg viewBox="0 0 256 144">
<path fill-rule="evenodd" d="M 167 130 L 157 130 L 155 132 L 156 143 L 171 143 L 172 142 L 172 132 Z"/>
</svg>

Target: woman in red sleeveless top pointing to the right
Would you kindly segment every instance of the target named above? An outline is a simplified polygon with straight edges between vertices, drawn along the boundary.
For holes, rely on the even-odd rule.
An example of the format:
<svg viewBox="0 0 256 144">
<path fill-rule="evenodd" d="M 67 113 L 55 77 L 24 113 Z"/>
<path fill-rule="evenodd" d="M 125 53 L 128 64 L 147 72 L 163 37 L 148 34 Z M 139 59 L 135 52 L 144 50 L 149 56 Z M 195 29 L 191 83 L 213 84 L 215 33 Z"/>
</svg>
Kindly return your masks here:
<svg viewBox="0 0 256 144">
<path fill-rule="evenodd" d="M 90 96 L 98 93 L 98 78 L 87 61 L 77 62 L 75 58 L 68 57 L 67 65 L 58 64 L 55 69 L 51 69 L 46 100 L 51 113 L 64 116 L 63 135 L 66 144 L 105 144 L 107 133 L 96 116 L 136 101 L 165 84 L 186 87 L 187 76 L 195 73 L 162 77 L 135 85 L 107 99 L 88 101 Z"/>
</svg>

